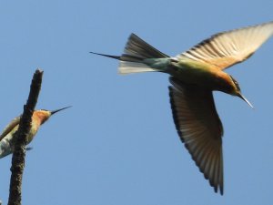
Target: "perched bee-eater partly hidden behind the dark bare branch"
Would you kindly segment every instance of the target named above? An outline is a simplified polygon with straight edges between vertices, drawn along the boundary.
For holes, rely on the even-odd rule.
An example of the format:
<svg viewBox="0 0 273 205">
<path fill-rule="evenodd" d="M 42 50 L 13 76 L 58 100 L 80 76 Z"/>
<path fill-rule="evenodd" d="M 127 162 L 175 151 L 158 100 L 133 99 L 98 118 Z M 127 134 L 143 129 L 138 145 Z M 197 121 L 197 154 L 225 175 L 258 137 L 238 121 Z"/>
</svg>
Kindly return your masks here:
<svg viewBox="0 0 273 205">
<path fill-rule="evenodd" d="M 70 108 L 70 107 L 66 107 Z M 29 133 L 26 136 L 26 144 L 29 144 L 32 139 L 35 137 L 38 129 L 45 121 L 54 115 L 56 112 L 59 112 L 66 108 L 60 108 L 53 111 L 40 109 L 35 110 L 32 116 L 31 128 Z M 11 154 L 15 148 L 15 132 L 17 131 L 20 123 L 21 116 L 14 118 L 3 130 L 0 135 L 0 159 Z"/>
</svg>

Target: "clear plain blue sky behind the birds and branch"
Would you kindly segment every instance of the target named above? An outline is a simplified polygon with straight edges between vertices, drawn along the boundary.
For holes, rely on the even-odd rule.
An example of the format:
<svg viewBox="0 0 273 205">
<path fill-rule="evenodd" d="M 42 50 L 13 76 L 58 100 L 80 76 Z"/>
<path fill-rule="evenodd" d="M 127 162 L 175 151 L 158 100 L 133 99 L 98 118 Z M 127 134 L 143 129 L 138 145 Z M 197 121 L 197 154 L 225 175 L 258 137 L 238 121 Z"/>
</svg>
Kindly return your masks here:
<svg viewBox="0 0 273 205">
<path fill-rule="evenodd" d="M 167 75 L 118 76 L 134 32 L 175 56 L 217 32 L 273 20 L 272 1 L 1 1 L 0 128 L 19 115 L 35 68 L 36 108 L 58 113 L 27 152 L 23 204 L 272 204 L 273 41 L 227 72 L 255 109 L 215 92 L 225 194 L 214 193 L 177 136 Z M 0 160 L 7 202 L 11 156 Z"/>
</svg>

